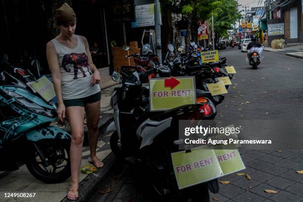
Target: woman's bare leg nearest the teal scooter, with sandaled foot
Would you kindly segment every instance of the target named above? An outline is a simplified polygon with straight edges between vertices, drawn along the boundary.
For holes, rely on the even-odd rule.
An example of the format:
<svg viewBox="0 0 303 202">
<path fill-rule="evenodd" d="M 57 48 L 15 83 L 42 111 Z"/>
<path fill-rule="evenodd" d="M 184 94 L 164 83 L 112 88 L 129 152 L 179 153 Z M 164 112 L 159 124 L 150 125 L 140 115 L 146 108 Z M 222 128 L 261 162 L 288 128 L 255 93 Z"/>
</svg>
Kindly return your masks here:
<svg viewBox="0 0 303 202">
<path fill-rule="evenodd" d="M 77 191 L 79 188 L 79 170 L 82 160 L 82 147 L 84 140 L 83 118 L 84 107 L 69 106 L 66 107 L 68 120 L 71 126 L 71 144 L 70 144 L 70 165 L 71 165 L 71 187 Z M 78 193 L 68 193 L 71 198 L 78 197 Z"/>
</svg>

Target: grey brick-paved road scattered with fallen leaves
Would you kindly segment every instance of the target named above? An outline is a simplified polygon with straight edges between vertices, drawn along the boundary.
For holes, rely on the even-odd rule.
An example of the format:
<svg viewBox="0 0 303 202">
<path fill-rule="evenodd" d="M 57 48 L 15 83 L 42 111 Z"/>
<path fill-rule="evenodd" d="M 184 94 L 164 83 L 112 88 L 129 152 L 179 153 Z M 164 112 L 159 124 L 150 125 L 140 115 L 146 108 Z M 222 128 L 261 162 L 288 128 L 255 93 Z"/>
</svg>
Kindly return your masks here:
<svg viewBox="0 0 303 202">
<path fill-rule="evenodd" d="M 219 52 L 228 58 L 228 64 L 237 70 L 236 78 L 225 100 L 217 107 L 217 120 L 252 124 L 243 129 L 245 138 L 271 139 L 271 146 L 241 147 L 242 158 L 252 180 L 230 174 L 220 178 L 230 184 L 220 184 L 219 194 L 211 194 L 211 201 L 218 202 L 302 202 L 303 136 L 302 127 L 284 131 L 277 124 L 291 127 L 303 121 L 303 60 L 272 52 L 263 52 L 263 60 L 257 70 L 246 63 L 246 53 L 237 48 Z M 277 150 L 281 152 L 277 152 Z M 117 163 L 112 175 L 100 185 L 112 185 L 113 190 L 105 195 L 96 194 L 91 202 L 149 202 L 155 201 L 154 193 L 136 177 L 131 168 Z M 267 194 L 264 189 L 278 191 Z"/>
</svg>

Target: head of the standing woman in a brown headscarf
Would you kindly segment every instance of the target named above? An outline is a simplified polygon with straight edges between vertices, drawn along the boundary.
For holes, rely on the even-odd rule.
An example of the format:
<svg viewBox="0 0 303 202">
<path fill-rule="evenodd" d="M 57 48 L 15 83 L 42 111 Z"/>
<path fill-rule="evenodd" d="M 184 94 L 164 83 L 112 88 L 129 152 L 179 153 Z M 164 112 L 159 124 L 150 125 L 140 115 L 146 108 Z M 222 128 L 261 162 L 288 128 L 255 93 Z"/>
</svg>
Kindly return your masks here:
<svg viewBox="0 0 303 202">
<path fill-rule="evenodd" d="M 76 29 L 76 14 L 67 3 L 56 9 L 55 21 L 63 35 L 71 37 L 74 34 Z"/>
</svg>

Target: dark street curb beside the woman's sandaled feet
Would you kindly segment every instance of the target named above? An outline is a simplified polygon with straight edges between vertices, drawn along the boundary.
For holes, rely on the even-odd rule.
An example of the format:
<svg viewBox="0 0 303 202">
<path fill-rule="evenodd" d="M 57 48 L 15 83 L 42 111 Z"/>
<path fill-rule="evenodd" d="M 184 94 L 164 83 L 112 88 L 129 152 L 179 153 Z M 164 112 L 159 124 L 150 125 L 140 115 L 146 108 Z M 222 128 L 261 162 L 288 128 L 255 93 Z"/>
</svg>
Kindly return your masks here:
<svg viewBox="0 0 303 202">
<path fill-rule="evenodd" d="M 89 174 L 79 184 L 79 199 L 77 202 L 87 202 L 93 195 L 96 194 L 98 183 L 109 176 L 111 167 L 116 162 L 116 158 L 113 153 L 110 153 L 104 158 L 104 160 L 102 160 L 102 162 L 104 163 L 103 168 L 98 169 L 92 174 Z M 65 197 L 60 202 L 70 201 Z"/>
</svg>

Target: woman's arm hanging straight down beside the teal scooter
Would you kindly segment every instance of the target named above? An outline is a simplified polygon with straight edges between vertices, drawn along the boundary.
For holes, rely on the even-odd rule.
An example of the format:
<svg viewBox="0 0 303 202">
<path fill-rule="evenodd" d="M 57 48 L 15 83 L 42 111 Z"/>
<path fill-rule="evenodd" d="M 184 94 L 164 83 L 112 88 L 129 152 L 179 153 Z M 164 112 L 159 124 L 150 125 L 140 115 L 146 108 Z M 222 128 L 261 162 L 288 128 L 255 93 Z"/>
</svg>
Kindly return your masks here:
<svg viewBox="0 0 303 202">
<path fill-rule="evenodd" d="M 55 94 L 58 101 L 58 117 L 61 121 L 65 118 L 65 106 L 63 104 L 62 92 L 61 92 L 61 73 L 58 62 L 58 56 L 55 47 L 52 42 L 47 43 L 47 59 L 50 67 L 51 77 Z"/>
</svg>

